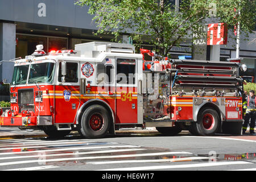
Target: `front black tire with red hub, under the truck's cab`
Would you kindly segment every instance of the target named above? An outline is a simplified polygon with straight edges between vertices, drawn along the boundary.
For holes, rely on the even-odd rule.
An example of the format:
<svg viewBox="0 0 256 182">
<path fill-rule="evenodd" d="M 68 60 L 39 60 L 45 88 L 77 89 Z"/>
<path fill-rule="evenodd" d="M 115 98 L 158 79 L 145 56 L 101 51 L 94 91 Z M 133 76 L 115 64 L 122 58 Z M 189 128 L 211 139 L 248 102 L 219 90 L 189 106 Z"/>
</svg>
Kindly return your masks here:
<svg viewBox="0 0 256 182">
<path fill-rule="evenodd" d="M 103 138 L 108 133 L 110 117 L 101 105 L 89 106 L 82 114 L 78 131 L 85 138 Z"/>
</svg>

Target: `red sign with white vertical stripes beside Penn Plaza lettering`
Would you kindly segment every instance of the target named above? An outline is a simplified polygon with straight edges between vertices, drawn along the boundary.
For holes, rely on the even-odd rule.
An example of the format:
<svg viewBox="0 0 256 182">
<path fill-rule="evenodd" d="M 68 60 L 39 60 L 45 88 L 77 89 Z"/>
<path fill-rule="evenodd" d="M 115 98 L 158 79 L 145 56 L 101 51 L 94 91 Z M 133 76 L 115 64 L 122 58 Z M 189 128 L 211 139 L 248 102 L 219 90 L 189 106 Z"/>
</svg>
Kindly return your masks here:
<svg viewBox="0 0 256 182">
<path fill-rule="evenodd" d="M 225 23 L 208 24 L 207 45 L 223 45 L 228 42 L 228 27 Z"/>
</svg>

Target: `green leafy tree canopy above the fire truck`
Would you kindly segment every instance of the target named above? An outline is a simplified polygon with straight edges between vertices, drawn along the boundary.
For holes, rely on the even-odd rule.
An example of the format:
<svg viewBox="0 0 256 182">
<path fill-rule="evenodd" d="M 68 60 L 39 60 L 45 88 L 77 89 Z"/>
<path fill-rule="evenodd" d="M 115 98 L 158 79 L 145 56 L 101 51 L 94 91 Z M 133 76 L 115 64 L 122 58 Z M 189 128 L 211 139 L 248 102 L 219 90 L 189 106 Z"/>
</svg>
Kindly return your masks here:
<svg viewBox="0 0 256 182">
<path fill-rule="evenodd" d="M 213 15 L 217 22 L 211 23 L 228 23 L 234 28 L 240 22 L 241 31 L 251 32 L 255 1 L 182 0 L 176 7 L 170 0 L 77 0 L 76 5 L 89 6 L 97 34 L 113 34 L 117 41 L 121 34 L 129 33 L 136 42 L 147 41 L 157 47 L 156 52 L 167 56 L 192 32 L 201 34 L 199 27 Z"/>
</svg>

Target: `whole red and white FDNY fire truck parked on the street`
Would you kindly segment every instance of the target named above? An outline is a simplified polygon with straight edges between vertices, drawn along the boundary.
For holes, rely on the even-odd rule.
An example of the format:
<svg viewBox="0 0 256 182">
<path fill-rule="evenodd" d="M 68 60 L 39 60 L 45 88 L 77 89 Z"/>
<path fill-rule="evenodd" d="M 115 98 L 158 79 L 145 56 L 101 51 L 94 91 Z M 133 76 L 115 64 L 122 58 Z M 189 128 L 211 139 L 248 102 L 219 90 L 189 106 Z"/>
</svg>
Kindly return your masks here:
<svg viewBox="0 0 256 182">
<path fill-rule="evenodd" d="M 146 57 L 150 59 L 147 60 Z M 0 126 L 40 129 L 50 137 L 77 130 L 100 138 L 125 127 L 174 135 L 240 134 L 240 63 L 171 60 L 129 44 L 92 42 L 15 61 L 11 109 Z"/>
</svg>

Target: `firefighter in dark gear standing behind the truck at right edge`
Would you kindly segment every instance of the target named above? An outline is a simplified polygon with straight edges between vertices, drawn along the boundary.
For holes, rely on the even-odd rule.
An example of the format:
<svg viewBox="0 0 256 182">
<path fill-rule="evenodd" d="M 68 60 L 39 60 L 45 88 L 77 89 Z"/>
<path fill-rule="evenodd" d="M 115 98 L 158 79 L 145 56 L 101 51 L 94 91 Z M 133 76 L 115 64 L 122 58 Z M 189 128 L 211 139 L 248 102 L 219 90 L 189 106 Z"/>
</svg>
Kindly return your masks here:
<svg viewBox="0 0 256 182">
<path fill-rule="evenodd" d="M 249 96 L 247 96 L 247 109 L 245 112 L 245 121 L 243 122 L 242 132 L 245 134 L 247 126 L 250 122 L 250 134 L 254 133 L 255 119 L 256 119 L 256 98 L 254 90 L 250 90 Z"/>
</svg>

